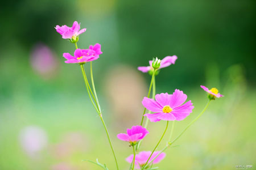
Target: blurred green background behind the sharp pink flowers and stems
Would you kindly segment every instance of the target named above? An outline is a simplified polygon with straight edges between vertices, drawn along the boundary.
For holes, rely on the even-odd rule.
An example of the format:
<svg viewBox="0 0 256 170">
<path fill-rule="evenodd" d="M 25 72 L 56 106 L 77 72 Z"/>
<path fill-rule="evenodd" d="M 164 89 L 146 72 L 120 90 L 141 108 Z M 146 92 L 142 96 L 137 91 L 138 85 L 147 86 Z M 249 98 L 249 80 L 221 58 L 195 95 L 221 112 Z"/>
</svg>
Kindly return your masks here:
<svg viewBox="0 0 256 170">
<path fill-rule="evenodd" d="M 137 67 L 147 66 L 152 57 L 173 55 L 175 65 L 156 77 L 156 92 L 171 94 L 178 88 L 195 105 L 176 123 L 174 136 L 207 103 L 201 84 L 225 97 L 210 104 L 157 166 L 255 169 L 255 10 L 254 0 L 2 2 L 0 169 L 100 169 L 81 162 L 97 158 L 115 169 L 80 67 L 62 57 L 75 46 L 54 28 L 71 27 L 75 20 L 87 28 L 79 48 L 102 45 L 94 80 L 120 169 L 128 169 L 125 158 L 132 151 L 116 135 L 141 121 L 141 100 L 150 83 Z M 165 125 L 149 124 L 142 150 L 154 148 Z"/>
</svg>

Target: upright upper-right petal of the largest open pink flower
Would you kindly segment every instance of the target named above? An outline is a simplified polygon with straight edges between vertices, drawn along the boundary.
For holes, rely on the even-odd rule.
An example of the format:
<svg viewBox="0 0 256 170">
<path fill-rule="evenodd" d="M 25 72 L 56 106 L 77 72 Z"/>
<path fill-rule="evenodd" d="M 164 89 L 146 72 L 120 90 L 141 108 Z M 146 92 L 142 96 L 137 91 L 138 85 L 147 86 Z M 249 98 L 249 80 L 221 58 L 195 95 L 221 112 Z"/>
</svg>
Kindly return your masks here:
<svg viewBox="0 0 256 170">
<path fill-rule="evenodd" d="M 175 90 L 170 99 L 170 107 L 176 108 L 179 105 L 183 104 L 187 100 L 187 95 L 183 94 L 183 91 Z"/>
</svg>

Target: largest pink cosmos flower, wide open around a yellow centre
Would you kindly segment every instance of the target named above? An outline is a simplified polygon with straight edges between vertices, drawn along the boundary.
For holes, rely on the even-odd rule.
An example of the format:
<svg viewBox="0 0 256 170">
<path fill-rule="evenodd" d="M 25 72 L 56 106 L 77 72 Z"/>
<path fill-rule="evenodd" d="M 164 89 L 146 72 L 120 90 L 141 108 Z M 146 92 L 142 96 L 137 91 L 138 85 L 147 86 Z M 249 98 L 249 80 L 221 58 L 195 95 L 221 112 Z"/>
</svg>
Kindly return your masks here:
<svg viewBox="0 0 256 170">
<path fill-rule="evenodd" d="M 151 122 L 160 120 L 181 121 L 192 113 L 192 109 L 194 108 L 191 100 L 183 104 L 187 100 L 187 95 L 177 89 L 172 95 L 167 93 L 155 95 L 155 100 L 147 97 L 144 97 L 142 100 L 142 104 L 148 111 L 156 112 L 154 114 L 144 114 Z"/>
</svg>

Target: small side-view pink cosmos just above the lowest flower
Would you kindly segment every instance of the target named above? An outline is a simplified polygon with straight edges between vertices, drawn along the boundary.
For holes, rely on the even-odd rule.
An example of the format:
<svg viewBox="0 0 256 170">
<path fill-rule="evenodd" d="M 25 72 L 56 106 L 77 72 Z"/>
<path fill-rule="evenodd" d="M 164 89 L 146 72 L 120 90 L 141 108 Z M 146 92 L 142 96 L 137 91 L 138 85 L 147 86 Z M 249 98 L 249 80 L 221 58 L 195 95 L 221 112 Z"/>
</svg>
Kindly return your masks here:
<svg viewBox="0 0 256 170">
<path fill-rule="evenodd" d="M 122 141 L 130 142 L 131 144 L 135 144 L 137 141 L 140 141 L 148 134 L 146 128 L 142 126 L 133 126 L 131 129 L 127 129 L 127 134 L 119 133 L 117 138 Z"/>
</svg>

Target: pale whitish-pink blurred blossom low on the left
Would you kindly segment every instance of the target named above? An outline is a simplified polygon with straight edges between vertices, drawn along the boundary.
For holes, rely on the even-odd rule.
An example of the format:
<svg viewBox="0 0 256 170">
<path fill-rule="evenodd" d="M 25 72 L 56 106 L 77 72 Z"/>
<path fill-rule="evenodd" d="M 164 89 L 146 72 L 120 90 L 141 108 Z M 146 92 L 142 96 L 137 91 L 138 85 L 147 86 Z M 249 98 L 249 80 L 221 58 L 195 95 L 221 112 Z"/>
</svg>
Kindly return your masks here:
<svg viewBox="0 0 256 170">
<path fill-rule="evenodd" d="M 48 143 L 47 133 L 37 126 L 28 126 L 20 131 L 20 145 L 30 156 L 35 156 Z"/>
</svg>

